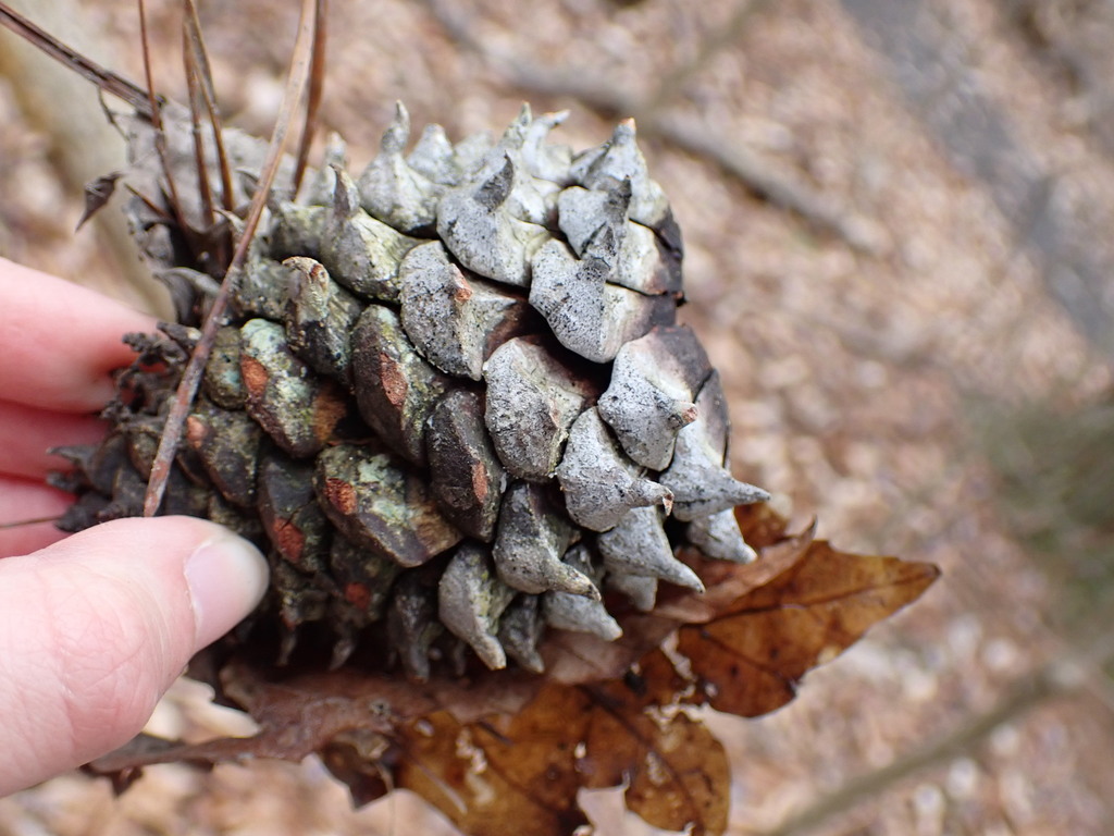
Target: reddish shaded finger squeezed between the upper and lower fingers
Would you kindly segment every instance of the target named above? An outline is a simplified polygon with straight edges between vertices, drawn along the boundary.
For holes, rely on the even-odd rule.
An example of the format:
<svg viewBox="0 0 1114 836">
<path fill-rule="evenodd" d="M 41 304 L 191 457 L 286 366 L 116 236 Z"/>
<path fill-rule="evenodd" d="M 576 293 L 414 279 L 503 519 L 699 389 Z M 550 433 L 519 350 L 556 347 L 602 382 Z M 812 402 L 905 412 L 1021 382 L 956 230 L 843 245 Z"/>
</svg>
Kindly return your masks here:
<svg viewBox="0 0 1114 836">
<path fill-rule="evenodd" d="M 94 444 L 107 425 L 94 416 L 38 409 L 0 400 L 0 474 L 41 479 L 51 470 L 68 469 L 51 447 Z"/>
</svg>

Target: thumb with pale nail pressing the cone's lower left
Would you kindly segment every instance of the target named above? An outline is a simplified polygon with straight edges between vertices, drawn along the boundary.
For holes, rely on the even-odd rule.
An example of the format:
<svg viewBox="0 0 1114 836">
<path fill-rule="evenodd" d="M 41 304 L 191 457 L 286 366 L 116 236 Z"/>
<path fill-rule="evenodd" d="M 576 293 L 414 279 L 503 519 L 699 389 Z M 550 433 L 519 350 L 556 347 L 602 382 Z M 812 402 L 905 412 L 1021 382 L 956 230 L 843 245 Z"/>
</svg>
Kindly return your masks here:
<svg viewBox="0 0 1114 836">
<path fill-rule="evenodd" d="M 192 517 L 118 519 L 0 560 L 0 796 L 123 746 L 266 562 Z"/>
</svg>

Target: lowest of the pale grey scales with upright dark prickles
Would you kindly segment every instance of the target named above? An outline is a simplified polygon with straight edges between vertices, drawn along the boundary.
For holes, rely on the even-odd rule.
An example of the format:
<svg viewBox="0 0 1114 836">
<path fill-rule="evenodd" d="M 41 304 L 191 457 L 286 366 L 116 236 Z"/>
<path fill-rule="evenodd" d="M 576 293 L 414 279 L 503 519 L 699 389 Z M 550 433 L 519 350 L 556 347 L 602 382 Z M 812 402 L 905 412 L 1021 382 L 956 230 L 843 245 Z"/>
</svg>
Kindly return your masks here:
<svg viewBox="0 0 1114 836">
<path fill-rule="evenodd" d="M 593 362 L 609 362 L 625 342 L 676 317 L 671 297 L 609 284 L 607 262 L 577 259 L 560 241 L 538 250 L 531 270 L 530 304 L 565 348 Z"/>
</svg>

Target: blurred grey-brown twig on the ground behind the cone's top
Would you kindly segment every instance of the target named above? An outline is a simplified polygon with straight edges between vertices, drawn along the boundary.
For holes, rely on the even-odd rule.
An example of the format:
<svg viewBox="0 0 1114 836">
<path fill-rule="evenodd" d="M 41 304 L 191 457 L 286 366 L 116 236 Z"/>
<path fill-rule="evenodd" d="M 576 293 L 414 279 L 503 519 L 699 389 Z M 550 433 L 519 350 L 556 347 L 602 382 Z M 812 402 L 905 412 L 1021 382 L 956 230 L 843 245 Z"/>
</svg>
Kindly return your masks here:
<svg viewBox="0 0 1114 836">
<path fill-rule="evenodd" d="M 479 55 L 508 84 L 535 94 L 575 98 L 608 116 L 632 116 L 638 125 L 639 135 L 656 135 L 694 156 L 711 161 L 756 197 L 792 212 L 819 230 L 836 234 L 854 250 L 877 254 L 883 249 L 885 232 L 878 223 L 790 173 L 776 171 L 739 143 L 717 136 L 692 119 L 665 111 L 654 96 L 646 100 L 636 99 L 596 80 L 600 74 L 584 70 L 566 72 L 499 50 L 475 35 L 469 19 L 459 7 L 447 0 L 426 0 L 426 3 L 452 40 Z"/>
</svg>

